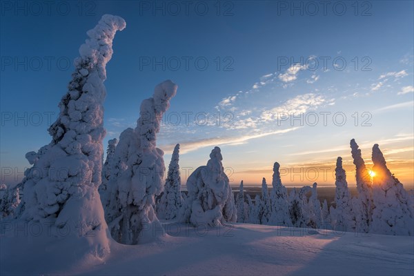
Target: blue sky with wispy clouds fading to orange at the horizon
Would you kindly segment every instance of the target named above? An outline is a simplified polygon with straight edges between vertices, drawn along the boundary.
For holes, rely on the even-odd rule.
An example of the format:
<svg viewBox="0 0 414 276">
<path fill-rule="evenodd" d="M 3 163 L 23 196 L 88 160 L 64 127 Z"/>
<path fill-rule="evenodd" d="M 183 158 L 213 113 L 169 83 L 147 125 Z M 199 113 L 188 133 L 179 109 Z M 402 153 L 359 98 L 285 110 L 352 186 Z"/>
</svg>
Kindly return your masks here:
<svg viewBox="0 0 414 276">
<path fill-rule="evenodd" d="M 413 1 L 332 1 L 326 12 L 306 1 L 6 2 L 1 181 L 19 181 L 25 153 L 49 143 L 48 114 L 54 121 L 71 62 L 86 31 L 110 13 L 127 27 L 107 67 L 105 143 L 135 126 L 141 101 L 172 79 L 179 90 L 158 145 L 168 164 L 181 144 L 183 179 L 221 146 L 233 184 L 270 182 L 274 161 L 286 185 L 333 184 L 342 156 L 352 185 L 355 138 L 368 166 L 380 144 L 391 171 L 413 184 Z M 290 112 L 302 114 L 303 124 L 286 119 Z"/>
</svg>

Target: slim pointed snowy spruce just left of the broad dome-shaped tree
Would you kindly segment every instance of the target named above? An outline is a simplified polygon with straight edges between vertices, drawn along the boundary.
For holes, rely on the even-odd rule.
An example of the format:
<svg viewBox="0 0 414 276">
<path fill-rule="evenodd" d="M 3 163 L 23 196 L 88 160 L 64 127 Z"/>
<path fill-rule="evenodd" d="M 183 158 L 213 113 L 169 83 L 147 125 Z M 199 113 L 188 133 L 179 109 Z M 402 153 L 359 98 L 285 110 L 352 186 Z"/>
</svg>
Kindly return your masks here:
<svg viewBox="0 0 414 276">
<path fill-rule="evenodd" d="M 170 165 L 164 193 L 157 203 L 157 217 L 160 219 L 174 219 L 178 215 L 178 210 L 183 204 L 181 197 L 181 175 L 179 172 L 179 144 L 175 145 Z"/>
</svg>

